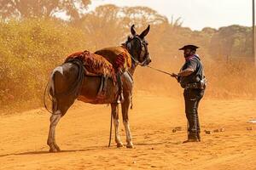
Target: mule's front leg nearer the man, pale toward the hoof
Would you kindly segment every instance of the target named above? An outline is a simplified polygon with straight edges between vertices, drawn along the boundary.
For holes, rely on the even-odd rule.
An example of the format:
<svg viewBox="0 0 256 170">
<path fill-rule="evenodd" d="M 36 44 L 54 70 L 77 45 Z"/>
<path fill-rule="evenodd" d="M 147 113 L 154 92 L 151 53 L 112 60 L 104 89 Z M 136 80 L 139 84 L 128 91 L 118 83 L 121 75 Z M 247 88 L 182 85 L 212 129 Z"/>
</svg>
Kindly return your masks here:
<svg viewBox="0 0 256 170">
<path fill-rule="evenodd" d="M 125 98 L 124 103 L 122 103 L 122 116 L 123 116 L 123 123 L 125 126 L 125 134 L 126 134 L 126 147 L 127 148 L 133 148 L 132 144 L 132 137 L 131 137 L 131 129 L 129 126 L 129 117 L 128 117 L 128 111 L 130 106 L 130 97 Z"/>
</svg>

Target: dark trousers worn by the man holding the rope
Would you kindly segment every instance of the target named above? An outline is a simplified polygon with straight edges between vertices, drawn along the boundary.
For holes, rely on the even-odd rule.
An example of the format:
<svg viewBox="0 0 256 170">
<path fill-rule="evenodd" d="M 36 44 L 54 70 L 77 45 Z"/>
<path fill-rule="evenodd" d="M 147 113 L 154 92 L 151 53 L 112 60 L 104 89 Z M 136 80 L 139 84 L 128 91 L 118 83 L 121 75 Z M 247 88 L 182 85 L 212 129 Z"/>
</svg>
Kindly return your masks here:
<svg viewBox="0 0 256 170">
<path fill-rule="evenodd" d="M 185 89 L 185 112 L 189 123 L 188 132 L 189 139 L 200 139 L 200 123 L 198 118 L 198 105 L 204 95 L 204 90 L 201 89 Z"/>
</svg>

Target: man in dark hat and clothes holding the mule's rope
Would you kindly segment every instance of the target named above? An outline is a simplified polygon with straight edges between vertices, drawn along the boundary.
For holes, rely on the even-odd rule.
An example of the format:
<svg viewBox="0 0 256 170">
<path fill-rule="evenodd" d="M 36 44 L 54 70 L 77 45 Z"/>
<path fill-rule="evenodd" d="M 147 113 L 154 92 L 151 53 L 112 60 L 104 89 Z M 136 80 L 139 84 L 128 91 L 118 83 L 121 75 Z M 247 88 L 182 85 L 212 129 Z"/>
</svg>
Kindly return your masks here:
<svg viewBox="0 0 256 170">
<path fill-rule="evenodd" d="M 183 143 L 201 141 L 197 110 L 206 88 L 206 78 L 204 77 L 201 59 L 198 54 L 195 54 L 197 48 L 199 47 L 195 45 L 186 45 L 179 48 L 179 50 L 183 50 L 185 64 L 179 73 L 172 73 L 172 77 L 175 77 L 184 88 L 185 112 L 189 127 L 188 139 Z"/>
</svg>

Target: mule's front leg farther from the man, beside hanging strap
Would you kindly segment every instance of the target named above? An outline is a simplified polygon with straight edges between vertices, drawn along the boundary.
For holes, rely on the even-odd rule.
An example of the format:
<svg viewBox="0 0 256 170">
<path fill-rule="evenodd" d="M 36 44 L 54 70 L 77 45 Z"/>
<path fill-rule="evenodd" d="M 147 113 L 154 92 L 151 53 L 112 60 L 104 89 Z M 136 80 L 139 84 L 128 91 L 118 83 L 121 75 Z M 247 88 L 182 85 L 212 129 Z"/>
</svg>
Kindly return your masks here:
<svg viewBox="0 0 256 170">
<path fill-rule="evenodd" d="M 117 147 L 123 147 L 123 143 L 120 139 L 119 134 L 119 113 L 118 113 L 118 104 L 111 104 L 111 114 L 113 116 L 113 125 L 114 125 L 114 131 L 115 131 L 115 142 L 117 144 Z"/>
</svg>

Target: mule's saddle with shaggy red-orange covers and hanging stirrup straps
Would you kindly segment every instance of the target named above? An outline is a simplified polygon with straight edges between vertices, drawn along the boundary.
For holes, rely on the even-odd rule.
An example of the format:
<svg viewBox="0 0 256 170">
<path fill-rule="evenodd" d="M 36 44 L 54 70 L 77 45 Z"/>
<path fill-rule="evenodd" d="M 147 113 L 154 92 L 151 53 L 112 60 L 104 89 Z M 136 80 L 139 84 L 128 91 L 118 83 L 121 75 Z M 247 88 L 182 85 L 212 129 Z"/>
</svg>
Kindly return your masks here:
<svg viewBox="0 0 256 170">
<path fill-rule="evenodd" d="M 103 48 L 94 54 L 85 50 L 84 52 L 70 54 L 65 59 L 65 62 L 68 62 L 69 59 L 79 59 L 82 61 L 85 76 L 102 77 L 97 95 L 100 99 L 105 96 L 108 78 L 111 78 L 113 84 L 115 84 L 117 82 L 117 74 L 122 74 L 131 67 L 131 55 L 123 46 Z M 122 89 L 122 85 L 120 84 L 119 89 L 120 86 Z"/>
</svg>

